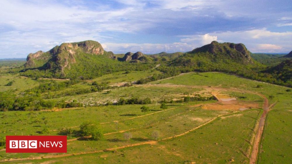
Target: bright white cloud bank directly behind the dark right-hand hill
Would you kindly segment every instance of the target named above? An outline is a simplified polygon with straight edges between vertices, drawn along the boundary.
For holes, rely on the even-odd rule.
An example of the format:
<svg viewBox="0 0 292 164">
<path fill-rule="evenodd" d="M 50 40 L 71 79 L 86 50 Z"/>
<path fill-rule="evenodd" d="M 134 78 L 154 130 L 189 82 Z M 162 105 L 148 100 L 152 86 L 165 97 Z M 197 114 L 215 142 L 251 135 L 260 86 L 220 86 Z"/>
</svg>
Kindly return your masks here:
<svg viewBox="0 0 292 164">
<path fill-rule="evenodd" d="M 292 47 L 292 32 L 272 32 L 267 29 L 247 31 L 227 31 L 207 33 L 205 35 L 189 35 L 183 37 L 181 42 L 199 47 L 209 44 L 211 40 L 219 42 L 243 43 L 251 52 L 290 52 Z"/>
</svg>

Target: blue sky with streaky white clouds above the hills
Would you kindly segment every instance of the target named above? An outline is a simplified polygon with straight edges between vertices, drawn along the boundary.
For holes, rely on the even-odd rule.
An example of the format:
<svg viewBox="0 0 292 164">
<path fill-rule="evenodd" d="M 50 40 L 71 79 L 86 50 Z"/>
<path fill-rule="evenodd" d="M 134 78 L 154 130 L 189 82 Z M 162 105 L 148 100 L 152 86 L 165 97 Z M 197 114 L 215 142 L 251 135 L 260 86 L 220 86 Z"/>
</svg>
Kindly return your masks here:
<svg viewBox="0 0 292 164">
<path fill-rule="evenodd" d="M 95 40 L 115 54 L 187 52 L 217 40 L 292 50 L 291 0 L 1 0 L 0 58 Z"/>
</svg>

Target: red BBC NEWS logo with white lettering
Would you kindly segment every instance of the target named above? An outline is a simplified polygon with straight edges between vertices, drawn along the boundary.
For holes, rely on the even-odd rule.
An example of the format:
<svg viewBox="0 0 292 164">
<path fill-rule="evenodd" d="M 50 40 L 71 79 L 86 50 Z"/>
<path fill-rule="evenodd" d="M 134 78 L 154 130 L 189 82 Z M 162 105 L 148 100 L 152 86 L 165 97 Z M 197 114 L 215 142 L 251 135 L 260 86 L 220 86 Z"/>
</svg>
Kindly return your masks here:
<svg viewBox="0 0 292 164">
<path fill-rule="evenodd" d="M 67 136 L 6 136 L 6 153 L 67 153 Z"/>
</svg>

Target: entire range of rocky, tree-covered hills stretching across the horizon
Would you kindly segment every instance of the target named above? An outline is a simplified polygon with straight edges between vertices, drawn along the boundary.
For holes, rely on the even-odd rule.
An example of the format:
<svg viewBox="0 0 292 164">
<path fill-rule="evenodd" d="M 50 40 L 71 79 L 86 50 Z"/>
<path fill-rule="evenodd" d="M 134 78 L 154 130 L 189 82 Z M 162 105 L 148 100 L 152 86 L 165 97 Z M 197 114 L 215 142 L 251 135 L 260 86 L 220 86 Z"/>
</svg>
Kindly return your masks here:
<svg viewBox="0 0 292 164">
<path fill-rule="evenodd" d="M 155 67 L 162 74 L 144 77 L 138 80 L 138 84 L 191 71 L 219 71 L 292 87 L 290 77 L 286 77 L 289 73 L 275 76 L 275 69 L 282 67 L 281 62 L 285 59 L 289 59 L 289 54 L 280 58 L 274 55 L 251 54 L 242 43 L 216 41 L 186 53 L 161 52 L 145 55 L 142 52 L 127 52 L 115 56 L 112 52 L 103 50 L 100 43 L 87 40 L 63 43 L 48 52 L 29 54 L 24 68 L 13 68 L 8 72 L 21 72 L 21 75 L 34 79 L 46 77 L 86 80 L 119 71 L 144 71 Z M 275 66 L 275 69 L 271 69 L 271 66 Z"/>
</svg>

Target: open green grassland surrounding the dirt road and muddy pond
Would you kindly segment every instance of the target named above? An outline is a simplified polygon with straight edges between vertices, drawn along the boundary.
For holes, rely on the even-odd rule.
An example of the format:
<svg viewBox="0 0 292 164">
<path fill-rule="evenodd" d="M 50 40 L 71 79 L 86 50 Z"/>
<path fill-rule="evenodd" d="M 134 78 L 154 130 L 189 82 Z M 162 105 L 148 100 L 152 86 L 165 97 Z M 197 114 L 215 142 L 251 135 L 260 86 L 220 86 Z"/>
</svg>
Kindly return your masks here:
<svg viewBox="0 0 292 164">
<path fill-rule="evenodd" d="M 93 81 L 117 84 L 133 82 L 154 74 L 159 72 L 148 70 L 131 71 L 125 74 L 125 71 L 122 71 L 92 81 L 84 80 L 50 93 L 62 95 L 76 89 L 88 89 Z M 9 77 L 1 76 L 3 77 L 0 80 L 2 91 L 7 91 L 9 89 L 5 90 L 5 87 L 14 85 L 25 86 L 25 90 L 44 82 L 10 74 Z M 9 82 L 7 78 L 15 79 L 12 86 L 4 86 Z M 220 94 L 235 97 L 241 102 L 263 104 L 262 97 L 245 91 L 265 95 L 269 98 L 270 104 L 276 102 L 267 116 L 258 163 L 291 163 L 289 154 L 292 152 L 290 131 L 292 94 L 286 91 L 288 88 L 217 72 L 188 73 L 144 85 L 116 87 L 110 89 L 110 92 L 99 91 L 53 98 L 65 101 L 77 100 L 87 105 L 95 102 L 113 102 L 119 98 L 150 98 L 152 103 L 146 105 L 150 111 L 146 113 L 141 112 L 140 107 L 143 105 L 139 104 L 0 112 L 1 138 L 5 135 L 67 135 L 69 140 L 68 156 L 9 162 L 10 158 L 49 155 L 56 157 L 63 154 L 6 154 L 2 146 L 0 161 L 7 160 L 8 163 L 76 163 L 77 161 L 82 163 L 248 163 L 256 124 L 263 113 L 260 107 L 244 111 L 206 110 L 201 106 L 217 103 L 216 100 L 206 100 L 167 103 L 167 109 L 160 108 L 159 102 L 164 99 L 169 102 L 195 94 L 211 95 L 213 87 L 223 88 L 219 90 Z M 236 88 L 242 91 L 230 91 L 224 88 Z M 80 138 L 77 135 L 79 126 L 85 121 L 97 125 L 103 131 L 104 138 L 98 141 Z M 42 133 L 44 128 L 48 131 Z M 66 128 L 73 129 L 72 137 L 64 131 Z M 154 131 L 159 133 L 157 142 L 152 137 Z M 127 141 L 124 133 L 131 133 L 133 137 Z M 141 145 L 131 146 L 131 144 Z M 106 149 L 110 150 L 103 151 Z M 79 154 L 81 152 L 85 154 Z"/>
</svg>

